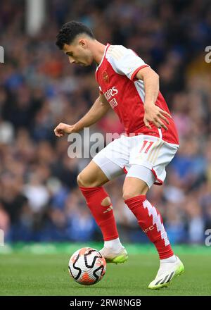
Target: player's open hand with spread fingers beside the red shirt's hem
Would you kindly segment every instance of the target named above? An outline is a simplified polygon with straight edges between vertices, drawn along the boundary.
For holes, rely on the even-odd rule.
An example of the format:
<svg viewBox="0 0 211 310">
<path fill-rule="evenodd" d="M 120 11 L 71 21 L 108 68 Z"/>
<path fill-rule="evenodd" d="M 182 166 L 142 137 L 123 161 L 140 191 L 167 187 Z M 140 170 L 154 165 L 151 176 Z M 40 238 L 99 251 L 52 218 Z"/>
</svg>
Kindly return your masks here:
<svg viewBox="0 0 211 310">
<path fill-rule="evenodd" d="M 144 106 L 144 110 L 143 122 L 147 128 L 151 129 L 150 123 L 153 123 L 157 128 L 164 128 L 167 130 L 167 125 L 170 124 L 167 117 L 172 118 L 169 113 L 160 109 L 159 106 L 155 106 L 155 104 Z M 164 122 L 167 123 L 167 125 Z"/>
</svg>

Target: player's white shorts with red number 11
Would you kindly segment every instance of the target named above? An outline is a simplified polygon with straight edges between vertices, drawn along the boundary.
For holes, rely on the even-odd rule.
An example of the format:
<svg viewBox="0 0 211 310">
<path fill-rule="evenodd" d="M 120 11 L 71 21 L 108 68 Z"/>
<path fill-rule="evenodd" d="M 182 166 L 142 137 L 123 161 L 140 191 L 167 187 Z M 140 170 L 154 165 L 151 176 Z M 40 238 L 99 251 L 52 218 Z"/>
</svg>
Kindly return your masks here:
<svg viewBox="0 0 211 310">
<path fill-rule="evenodd" d="M 178 144 L 165 142 L 159 137 L 122 135 L 96 154 L 93 161 L 108 180 L 127 173 L 127 177 L 139 178 L 151 187 L 153 184 L 162 185 L 166 177 L 165 167 L 178 148 Z"/>
</svg>

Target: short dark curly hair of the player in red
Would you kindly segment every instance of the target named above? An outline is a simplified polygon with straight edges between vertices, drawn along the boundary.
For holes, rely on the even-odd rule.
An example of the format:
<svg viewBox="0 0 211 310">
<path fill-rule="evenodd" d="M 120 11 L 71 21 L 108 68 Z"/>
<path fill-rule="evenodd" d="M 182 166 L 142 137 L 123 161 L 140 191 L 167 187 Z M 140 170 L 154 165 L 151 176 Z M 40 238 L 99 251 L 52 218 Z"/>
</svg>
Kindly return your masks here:
<svg viewBox="0 0 211 310">
<path fill-rule="evenodd" d="M 58 35 L 56 36 L 56 45 L 59 49 L 63 49 L 65 44 L 71 44 L 75 37 L 81 33 L 85 33 L 94 39 L 94 34 L 89 27 L 72 20 L 60 28 Z"/>
</svg>

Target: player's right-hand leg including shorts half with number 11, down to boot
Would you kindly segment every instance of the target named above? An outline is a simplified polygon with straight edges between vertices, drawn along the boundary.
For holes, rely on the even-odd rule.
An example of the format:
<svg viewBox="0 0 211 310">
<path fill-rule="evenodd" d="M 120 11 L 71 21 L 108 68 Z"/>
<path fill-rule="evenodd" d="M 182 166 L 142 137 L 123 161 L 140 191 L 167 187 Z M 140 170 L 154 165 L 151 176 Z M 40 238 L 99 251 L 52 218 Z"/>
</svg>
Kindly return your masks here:
<svg viewBox="0 0 211 310">
<path fill-rule="evenodd" d="M 130 168 L 124 181 L 123 197 L 158 251 L 160 268 L 148 285 L 151 290 L 156 290 L 170 285 L 177 275 L 183 273 L 184 266 L 172 251 L 160 212 L 146 198 L 147 188 L 143 187 L 143 182 L 148 188 L 155 182 L 161 185 L 165 180 L 165 167 L 178 147 L 156 137 L 139 135 L 131 137 L 131 140 Z"/>
</svg>

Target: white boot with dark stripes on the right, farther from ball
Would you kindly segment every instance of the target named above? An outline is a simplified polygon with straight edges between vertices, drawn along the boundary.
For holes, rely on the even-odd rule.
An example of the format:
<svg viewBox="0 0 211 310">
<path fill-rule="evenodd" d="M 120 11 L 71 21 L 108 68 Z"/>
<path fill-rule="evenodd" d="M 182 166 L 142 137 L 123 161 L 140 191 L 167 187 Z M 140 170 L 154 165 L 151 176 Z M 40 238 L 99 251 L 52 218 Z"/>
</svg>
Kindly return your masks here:
<svg viewBox="0 0 211 310">
<path fill-rule="evenodd" d="M 181 273 L 184 272 L 183 263 L 180 261 L 179 257 L 176 256 L 176 258 L 177 261 L 174 263 L 160 263 L 160 268 L 155 280 L 148 285 L 148 288 L 151 290 L 158 290 L 162 287 L 167 287 L 177 275 L 181 275 Z"/>
</svg>

